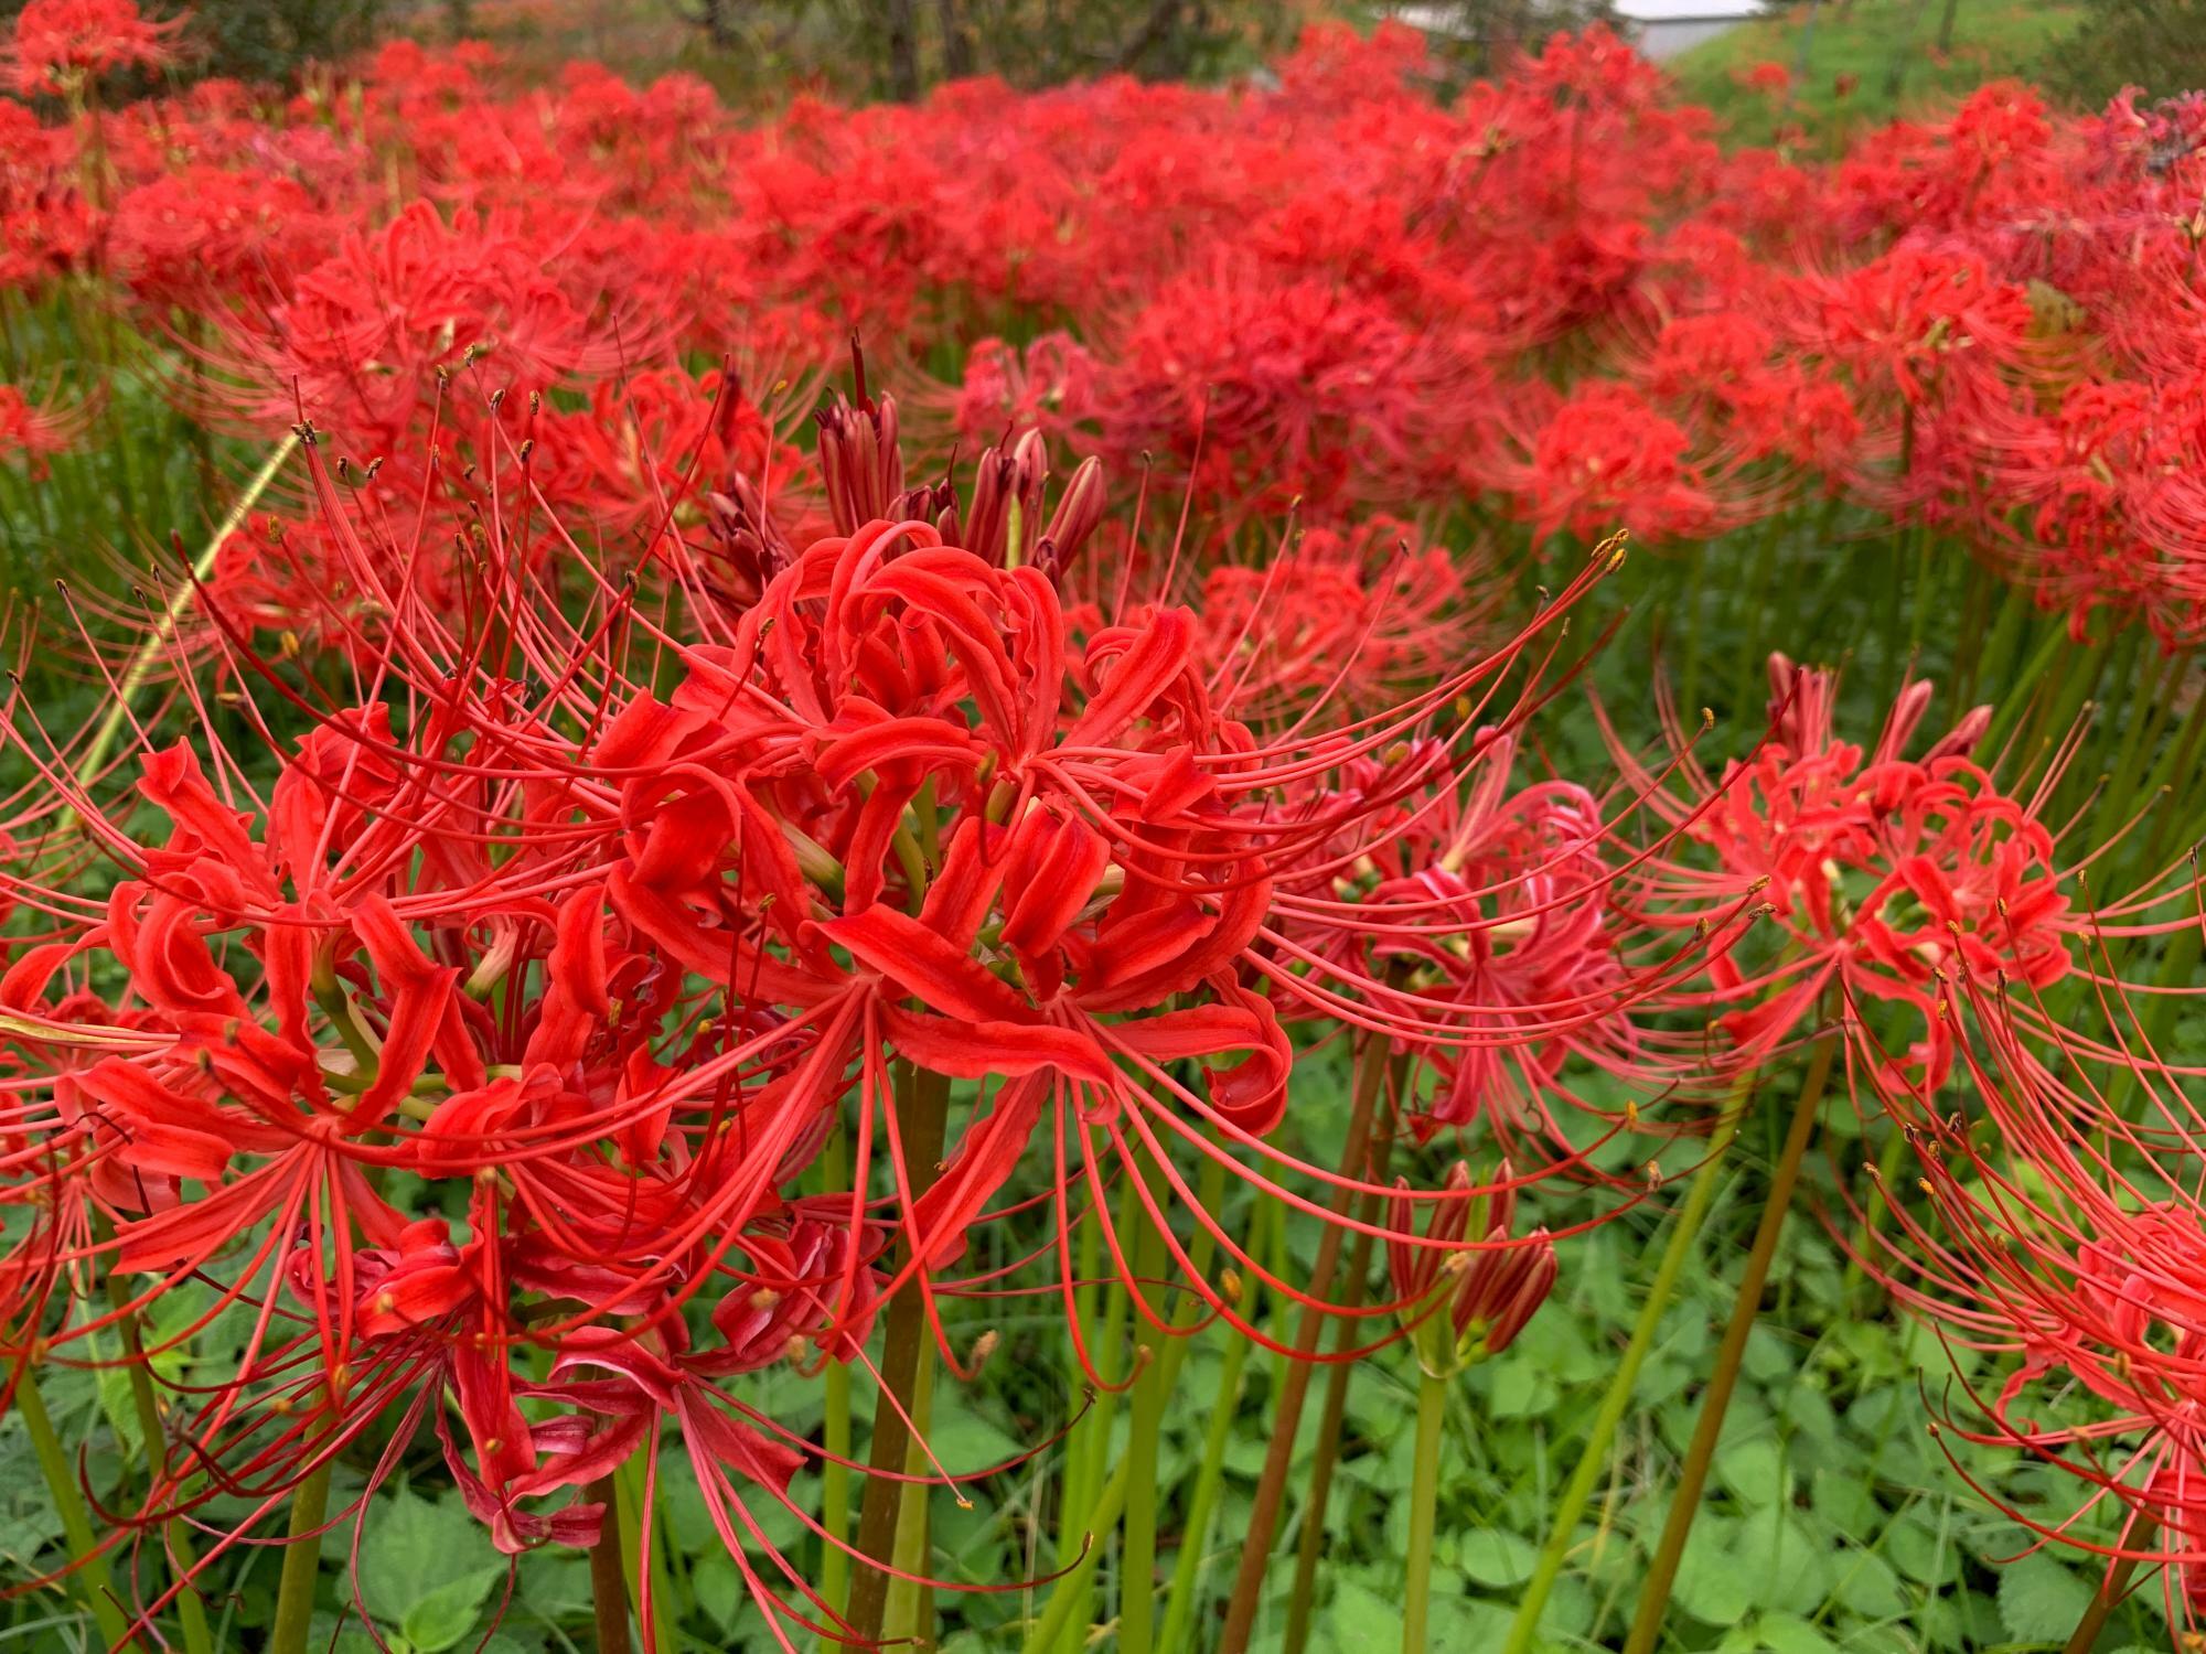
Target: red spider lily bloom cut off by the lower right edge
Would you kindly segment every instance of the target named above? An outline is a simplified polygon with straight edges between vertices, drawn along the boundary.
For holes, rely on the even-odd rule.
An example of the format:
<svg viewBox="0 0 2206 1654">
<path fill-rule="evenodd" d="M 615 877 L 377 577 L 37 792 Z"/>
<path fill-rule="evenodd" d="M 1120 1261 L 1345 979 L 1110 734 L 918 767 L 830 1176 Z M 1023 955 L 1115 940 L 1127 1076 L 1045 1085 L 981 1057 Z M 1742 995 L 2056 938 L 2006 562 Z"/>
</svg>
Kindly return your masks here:
<svg viewBox="0 0 2206 1654">
<path fill-rule="evenodd" d="M 2096 1041 L 2065 1052 L 2021 1032 L 1974 979 L 1948 995 L 1948 1021 L 1974 1012 L 1961 1100 L 1948 1109 L 1924 1089 L 1875 1087 L 1915 1147 L 1917 1178 L 1913 1191 L 1886 1191 L 1899 1233 L 1877 1235 L 1866 1261 L 1908 1308 L 2005 1367 L 1996 1387 L 1968 1387 L 1983 1422 L 1946 1427 L 2018 1447 L 2082 1489 L 2060 1517 L 1979 1491 L 2047 1542 L 2107 1559 L 2120 1581 L 2135 1564 L 2164 1566 L 2168 1619 L 2197 1623 L 2206 1123 L 2186 1098 L 2193 1070 L 2153 1052 L 2135 990 L 2096 999 L 2142 1107 L 2113 1103 L 2091 1065 L 2067 1061 L 2105 1056 Z"/>
</svg>

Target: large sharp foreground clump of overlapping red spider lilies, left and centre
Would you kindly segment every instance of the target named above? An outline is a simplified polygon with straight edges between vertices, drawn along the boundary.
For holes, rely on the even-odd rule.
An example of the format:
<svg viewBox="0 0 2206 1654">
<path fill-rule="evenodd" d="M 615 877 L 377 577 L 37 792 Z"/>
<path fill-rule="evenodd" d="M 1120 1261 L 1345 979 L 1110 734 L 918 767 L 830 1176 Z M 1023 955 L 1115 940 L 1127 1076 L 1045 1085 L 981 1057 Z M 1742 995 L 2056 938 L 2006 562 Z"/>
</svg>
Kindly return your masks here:
<svg viewBox="0 0 2206 1654">
<path fill-rule="evenodd" d="M 31 926 L 0 979 L 11 1343 L 86 1358 L 172 1279 L 214 1288 L 201 1323 L 251 1317 L 115 1544 L 218 1495 L 265 1515 L 313 1467 L 388 1467 L 424 1427 L 503 1550 L 589 1544 L 589 1489 L 673 1429 L 777 1634 L 845 1634 L 748 1511 L 823 1449 L 743 1374 L 867 1361 L 900 1292 L 966 1372 L 942 1303 L 1070 1306 L 1083 1222 L 1156 1332 L 1191 1325 L 1191 1299 L 1193 1323 L 1271 1345 L 1191 1244 L 1330 1306 L 1196 1193 L 1200 1169 L 1299 1209 L 1388 1193 L 1275 1142 L 1291 1028 L 1546 1094 L 1549 1050 L 1736 942 L 1747 902 L 1646 966 L 1604 917 L 1588 933 L 1582 913 L 1613 913 L 1602 805 L 1509 781 L 1546 635 L 1613 558 L 1414 695 L 1359 712 L 1319 692 L 1257 732 L 1227 710 L 1242 657 L 1204 615 L 1063 602 L 1103 520 L 1092 463 L 1043 512 L 1035 443 L 960 492 L 902 487 L 893 434 L 889 399 L 823 412 L 834 531 L 803 547 L 724 501 L 761 580 L 741 600 L 715 584 L 726 540 L 662 536 L 620 578 L 582 556 L 525 439 L 507 476 L 452 485 L 494 509 L 432 582 L 419 538 L 388 538 L 408 520 L 388 485 L 357 476 L 346 501 L 309 428 L 344 571 L 309 589 L 351 679 L 251 653 L 251 617 L 207 600 L 232 704 L 260 730 L 309 721 L 271 785 L 196 719 L 201 739 L 141 739 L 110 796 L 9 708 L 44 787 L 15 823 Z M 1218 624 L 1271 622 L 1229 604 Z M 205 712 L 190 675 L 179 695 Z M 104 895 L 88 858 L 119 873 Z M 816 1186 L 836 1131 L 847 1184 Z M 1476 1246 L 1445 1314 L 1498 1347 L 1553 1272 L 1546 1231 L 1498 1213 L 1577 1169 L 1562 1145 L 1396 1193 L 1377 1233 L 1405 1257 Z M 1132 1272 L 1121 1189 L 1167 1281 Z M 1039 1253 L 982 1261 L 975 1237 L 1037 1204 Z M 73 1303 L 86 1268 L 124 1281 L 117 1306 Z M 1429 1286 L 1343 1314 L 1412 1312 Z"/>
</svg>

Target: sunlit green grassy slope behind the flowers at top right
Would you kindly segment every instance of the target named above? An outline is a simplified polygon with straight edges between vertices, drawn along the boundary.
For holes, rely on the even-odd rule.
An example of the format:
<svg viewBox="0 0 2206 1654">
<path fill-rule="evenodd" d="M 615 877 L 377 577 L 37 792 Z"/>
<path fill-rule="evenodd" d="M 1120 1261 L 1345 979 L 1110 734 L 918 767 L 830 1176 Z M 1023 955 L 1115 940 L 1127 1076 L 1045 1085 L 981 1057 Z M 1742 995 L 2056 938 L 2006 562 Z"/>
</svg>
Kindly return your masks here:
<svg viewBox="0 0 2206 1654">
<path fill-rule="evenodd" d="M 1952 49 L 1939 51 L 1948 2 Z M 1741 143 L 1769 143 L 1787 126 L 1838 143 L 1895 115 L 1946 106 L 1988 79 L 2036 77 L 2080 15 L 2067 0 L 1820 0 L 1716 35 L 1670 68 L 1685 97 L 1714 108 Z M 1756 64 L 1791 71 L 1791 93 L 1743 86 Z"/>
</svg>

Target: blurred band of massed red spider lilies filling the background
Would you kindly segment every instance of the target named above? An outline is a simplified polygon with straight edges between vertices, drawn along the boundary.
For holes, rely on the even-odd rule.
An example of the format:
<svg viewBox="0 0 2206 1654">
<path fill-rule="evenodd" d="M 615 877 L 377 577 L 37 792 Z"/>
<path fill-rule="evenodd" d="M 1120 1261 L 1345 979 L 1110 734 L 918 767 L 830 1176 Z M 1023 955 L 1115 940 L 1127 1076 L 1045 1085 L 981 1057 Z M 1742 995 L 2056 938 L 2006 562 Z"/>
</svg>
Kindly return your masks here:
<svg viewBox="0 0 2206 1654">
<path fill-rule="evenodd" d="M 33 13 L 165 42 L 119 2 Z M 190 408 L 274 437 L 302 397 L 360 463 L 459 441 L 437 384 L 488 359 L 560 393 L 503 430 L 620 534 L 728 492 L 790 364 L 865 324 L 966 364 L 915 404 L 924 463 L 1041 426 L 1191 483 L 1220 538 L 1452 494 L 1685 538 L 1844 490 L 2078 626 L 2197 635 L 2195 101 L 1990 86 L 1809 163 L 1718 152 L 1602 31 L 1454 104 L 1425 82 L 1407 31 L 1317 31 L 1273 90 L 971 82 L 743 123 L 686 77 L 514 90 L 485 49 L 397 42 L 274 112 L 203 84 L 95 137 L 0 106 L 0 284 L 90 278 L 176 342 Z"/>
</svg>

